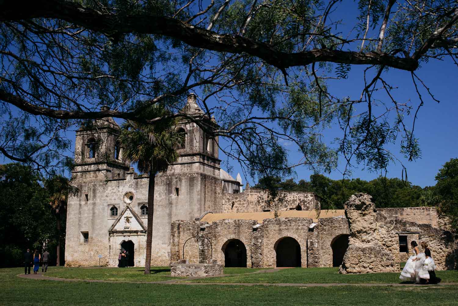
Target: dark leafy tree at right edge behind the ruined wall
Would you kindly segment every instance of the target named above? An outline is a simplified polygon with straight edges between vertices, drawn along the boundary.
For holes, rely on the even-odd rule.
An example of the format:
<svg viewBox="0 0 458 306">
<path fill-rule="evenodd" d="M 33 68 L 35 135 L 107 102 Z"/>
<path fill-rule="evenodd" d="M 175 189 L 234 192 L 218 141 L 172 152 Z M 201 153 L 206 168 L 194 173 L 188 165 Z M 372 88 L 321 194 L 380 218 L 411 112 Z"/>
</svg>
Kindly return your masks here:
<svg viewBox="0 0 458 306">
<path fill-rule="evenodd" d="M 442 201 L 439 210 L 450 218 L 450 223 L 458 231 L 458 158 L 451 158 L 439 169 L 436 175 L 435 190 Z"/>
</svg>

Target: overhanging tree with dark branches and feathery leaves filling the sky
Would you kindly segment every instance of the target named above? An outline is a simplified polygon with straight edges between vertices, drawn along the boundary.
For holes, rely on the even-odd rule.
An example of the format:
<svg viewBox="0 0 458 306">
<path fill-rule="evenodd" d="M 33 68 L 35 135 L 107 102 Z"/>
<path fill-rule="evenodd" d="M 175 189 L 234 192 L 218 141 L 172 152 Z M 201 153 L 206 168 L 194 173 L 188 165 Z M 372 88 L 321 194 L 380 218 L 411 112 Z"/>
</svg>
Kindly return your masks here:
<svg viewBox="0 0 458 306">
<path fill-rule="evenodd" d="M 201 124 L 214 115 L 219 126 L 202 124 L 205 132 L 226 138 L 226 155 L 259 177 L 265 169 L 297 165 L 329 171 L 337 153 L 349 166 L 384 169 L 395 158 L 387 144 L 399 137 L 400 153 L 419 158 L 414 124 L 406 120 L 417 112 L 397 102 L 397 84 L 386 75 L 410 74 L 415 108 L 424 103 L 421 88 L 435 100 L 416 71 L 444 57 L 455 61 L 456 1 L 359 0 L 356 14 L 342 14 L 346 6 L 337 0 L 1 1 L 0 152 L 51 171 L 70 164 L 64 132 L 81 121 L 113 116 L 161 125 L 179 116 Z M 361 94 L 328 91 L 327 80 L 347 78 L 354 65 L 367 67 Z M 178 112 L 190 91 L 200 95 L 201 118 Z M 169 115 L 142 115 L 158 103 Z M 111 110 L 98 110 L 102 105 Z M 322 141 L 331 124 L 342 130 L 336 148 Z M 299 160 L 286 158 L 285 143 L 300 152 Z"/>
</svg>

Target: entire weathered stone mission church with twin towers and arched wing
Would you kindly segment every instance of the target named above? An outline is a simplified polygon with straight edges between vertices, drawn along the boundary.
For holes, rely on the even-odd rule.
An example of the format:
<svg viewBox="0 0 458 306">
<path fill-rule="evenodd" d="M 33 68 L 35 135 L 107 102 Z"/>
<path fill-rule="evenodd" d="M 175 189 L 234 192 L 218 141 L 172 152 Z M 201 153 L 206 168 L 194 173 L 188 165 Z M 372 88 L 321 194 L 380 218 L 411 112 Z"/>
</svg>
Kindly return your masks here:
<svg viewBox="0 0 458 306">
<path fill-rule="evenodd" d="M 202 114 L 195 95 L 183 111 Z M 185 136 L 180 158 L 156 177 L 153 266 L 183 258 L 248 268 L 342 264 L 354 238 L 345 210 L 322 210 L 317 218 L 320 203 L 313 193 L 284 191 L 275 219 L 262 205 L 266 191 L 243 190 L 240 175 L 234 179 L 220 168 L 218 137 L 207 137 L 192 122 L 177 129 Z M 119 134 L 113 118 L 76 131 L 72 182 L 79 193 L 68 199 L 66 266 L 96 266 L 102 256 L 102 265 L 114 267 L 121 248 L 131 255 L 129 266 L 145 265 L 149 177 L 136 174 L 123 157 Z M 435 208 L 373 210 L 365 224 L 375 226 L 380 248 L 393 262 L 405 262 L 410 241 L 423 239 L 436 248 L 439 269 L 455 267 L 456 241 L 441 238 L 446 231 Z M 196 235 L 205 239 L 190 239 Z"/>
</svg>

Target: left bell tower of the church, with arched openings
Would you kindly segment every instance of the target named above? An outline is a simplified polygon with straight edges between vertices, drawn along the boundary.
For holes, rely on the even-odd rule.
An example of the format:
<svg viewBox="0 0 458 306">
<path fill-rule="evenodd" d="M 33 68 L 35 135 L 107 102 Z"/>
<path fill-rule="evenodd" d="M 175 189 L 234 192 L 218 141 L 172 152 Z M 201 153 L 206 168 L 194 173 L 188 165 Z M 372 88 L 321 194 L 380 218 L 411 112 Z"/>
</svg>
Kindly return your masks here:
<svg viewBox="0 0 458 306">
<path fill-rule="evenodd" d="M 102 110 L 108 110 L 103 106 Z M 125 177 L 130 161 L 122 156 L 118 141 L 120 127 L 111 117 L 93 120 L 76 131 L 75 168 L 77 180 L 106 180 Z"/>
</svg>

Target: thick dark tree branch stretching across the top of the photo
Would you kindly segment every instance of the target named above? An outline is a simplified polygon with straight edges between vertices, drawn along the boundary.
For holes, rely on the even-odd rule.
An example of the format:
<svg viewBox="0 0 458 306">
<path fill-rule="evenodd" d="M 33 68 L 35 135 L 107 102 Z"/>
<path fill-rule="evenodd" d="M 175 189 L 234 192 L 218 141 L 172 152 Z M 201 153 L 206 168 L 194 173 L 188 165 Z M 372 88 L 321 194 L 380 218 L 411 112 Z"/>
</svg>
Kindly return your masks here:
<svg viewBox="0 0 458 306">
<path fill-rule="evenodd" d="M 232 34 L 218 34 L 185 24 L 180 20 L 151 15 L 116 15 L 96 11 L 82 5 L 59 0 L 36 0 L 24 6 L 22 2 L 0 5 L 0 21 L 19 21 L 31 18 L 57 18 L 87 29 L 116 37 L 116 33 L 157 34 L 180 39 L 193 47 L 218 52 L 246 53 L 256 56 L 279 69 L 306 66 L 317 61 L 353 65 L 384 65 L 414 71 L 418 59 L 400 58 L 381 52 L 360 53 L 329 49 L 304 52 L 282 52 L 271 45 Z"/>
</svg>

